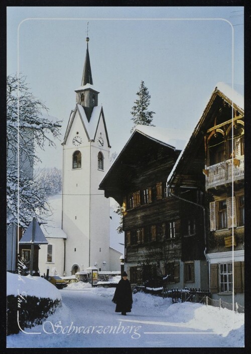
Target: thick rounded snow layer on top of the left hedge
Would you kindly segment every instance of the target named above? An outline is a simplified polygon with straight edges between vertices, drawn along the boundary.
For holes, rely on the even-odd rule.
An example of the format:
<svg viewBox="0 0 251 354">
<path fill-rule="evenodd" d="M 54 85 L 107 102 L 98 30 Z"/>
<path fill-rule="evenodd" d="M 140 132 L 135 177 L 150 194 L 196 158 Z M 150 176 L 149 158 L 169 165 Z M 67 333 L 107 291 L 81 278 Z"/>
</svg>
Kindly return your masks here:
<svg viewBox="0 0 251 354">
<path fill-rule="evenodd" d="M 7 272 L 7 296 L 36 296 L 37 298 L 50 298 L 61 300 L 60 291 L 46 279 L 41 277 L 20 276 Z"/>
</svg>

